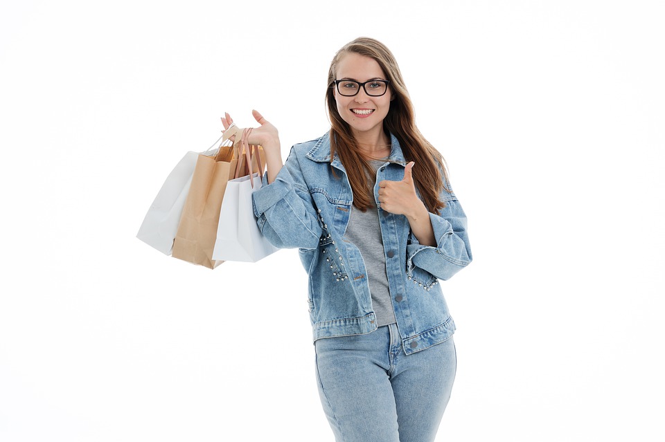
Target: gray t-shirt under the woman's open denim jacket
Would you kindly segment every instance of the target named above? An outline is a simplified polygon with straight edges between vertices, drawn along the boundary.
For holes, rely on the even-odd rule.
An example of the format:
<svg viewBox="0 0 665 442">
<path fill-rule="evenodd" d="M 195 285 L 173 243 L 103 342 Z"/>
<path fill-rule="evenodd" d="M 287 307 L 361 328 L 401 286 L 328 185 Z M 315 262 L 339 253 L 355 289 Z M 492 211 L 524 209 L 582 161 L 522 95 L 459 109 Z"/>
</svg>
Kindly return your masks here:
<svg viewBox="0 0 665 442">
<path fill-rule="evenodd" d="M 371 189 L 374 188 L 376 181 L 376 170 L 385 163 L 385 160 L 370 161 L 370 165 L 374 169 L 374 175 L 367 177 Z M 344 236 L 360 250 L 360 255 L 365 263 L 377 326 L 394 324 L 396 322 L 395 312 L 390 300 L 386 257 L 376 205 L 373 204 L 365 212 L 352 206 Z"/>
</svg>

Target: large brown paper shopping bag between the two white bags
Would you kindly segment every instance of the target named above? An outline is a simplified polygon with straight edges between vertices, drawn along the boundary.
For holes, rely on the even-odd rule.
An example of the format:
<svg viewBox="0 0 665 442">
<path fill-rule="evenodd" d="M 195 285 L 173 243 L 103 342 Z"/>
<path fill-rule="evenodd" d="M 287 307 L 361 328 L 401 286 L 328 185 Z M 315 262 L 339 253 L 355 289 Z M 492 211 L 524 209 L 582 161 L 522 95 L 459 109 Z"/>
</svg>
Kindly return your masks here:
<svg viewBox="0 0 665 442">
<path fill-rule="evenodd" d="M 237 151 L 229 138 L 238 128 L 224 131 L 222 145 L 215 156 L 198 156 L 189 193 L 173 243 L 172 257 L 215 268 L 222 261 L 213 259 L 220 208 L 227 183 L 236 174 Z M 237 137 L 240 138 L 240 137 Z"/>
</svg>

